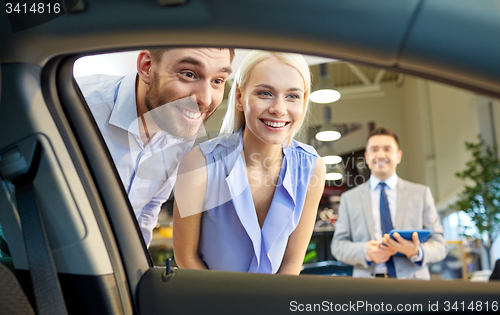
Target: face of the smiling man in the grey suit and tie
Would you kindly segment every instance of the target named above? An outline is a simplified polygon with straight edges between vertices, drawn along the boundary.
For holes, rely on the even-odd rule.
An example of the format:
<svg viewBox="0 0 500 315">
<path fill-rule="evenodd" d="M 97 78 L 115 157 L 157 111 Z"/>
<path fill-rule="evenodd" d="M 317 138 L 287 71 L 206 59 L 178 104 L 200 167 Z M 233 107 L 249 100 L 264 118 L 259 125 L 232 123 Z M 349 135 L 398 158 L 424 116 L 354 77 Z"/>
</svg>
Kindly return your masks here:
<svg viewBox="0 0 500 315">
<path fill-rule="evenodd" d="M 378 179 L 385 180 L 396 173 L 402 156 L 403 152 L 393 137 L 376 135 L 368 139 L 365 159 L 372 174 Z"/>
</svg>

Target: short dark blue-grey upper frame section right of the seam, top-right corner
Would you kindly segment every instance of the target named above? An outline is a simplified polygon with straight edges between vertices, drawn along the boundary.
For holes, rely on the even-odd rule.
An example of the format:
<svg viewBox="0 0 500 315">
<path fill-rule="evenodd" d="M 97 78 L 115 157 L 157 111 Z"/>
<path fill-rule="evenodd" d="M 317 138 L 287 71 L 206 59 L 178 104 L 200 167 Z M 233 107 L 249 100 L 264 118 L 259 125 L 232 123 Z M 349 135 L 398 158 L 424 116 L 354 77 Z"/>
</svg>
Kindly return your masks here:
<svg viewBox="0 0 500 315">
<path fill-rule="evenodd" d="M 495 91 L 498 96 L 500 64 L 495 59 L 500 54 L 499 37 L 498 1 L 479 1 L 473 6 L 467 0 L 424 1 L 399 66 L 447 78 L 454 84 L 474 85 L 493 96 Z"/>
</svg>

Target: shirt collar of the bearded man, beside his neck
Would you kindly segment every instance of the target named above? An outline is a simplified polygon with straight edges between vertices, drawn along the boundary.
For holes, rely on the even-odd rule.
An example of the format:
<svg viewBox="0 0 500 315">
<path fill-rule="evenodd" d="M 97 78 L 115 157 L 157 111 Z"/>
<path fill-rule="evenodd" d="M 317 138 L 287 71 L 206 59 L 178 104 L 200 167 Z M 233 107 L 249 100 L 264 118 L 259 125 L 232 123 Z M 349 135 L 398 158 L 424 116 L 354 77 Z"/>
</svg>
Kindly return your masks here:
<svg viewBox="0 0 500 315">
<path fill-rule="evenodd" d="M 137 120 L 137 105 L 135 95 L 135 80 L 137 71 L 127 74 L 115 93 L 115 102 L 109 123 L 135 135 L 139 135 L 139 126 L 132 123 Z"/>
</svg>

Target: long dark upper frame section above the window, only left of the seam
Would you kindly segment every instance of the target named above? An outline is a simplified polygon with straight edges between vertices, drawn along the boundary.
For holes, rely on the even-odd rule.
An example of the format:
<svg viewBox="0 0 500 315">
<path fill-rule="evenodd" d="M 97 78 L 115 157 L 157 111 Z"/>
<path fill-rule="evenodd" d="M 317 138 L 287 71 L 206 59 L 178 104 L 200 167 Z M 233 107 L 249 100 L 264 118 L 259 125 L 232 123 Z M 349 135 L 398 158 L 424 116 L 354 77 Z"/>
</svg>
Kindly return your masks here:
<svg viewBox="0 0 500 315">
<path fill-rule="evenodd" d="M 118 7 L 113 0 L 89 1 L 85 11 L 38 26 L 37 36 L 32 36 L 34 29 L 13 36 L 6 28 L 0 34 L 8 42 L 22 41 L 38 51 L 19 56 L 0 47 L 0 54 L 5 62 L 22 58 L 43 64 L 47 62 L 45 56 L 55 56 L 60 51 L 86 51 L 90 47 L 105 50 L 166 43 L 261 48 L 279 45 L 281 49 L 299 49 L 304 53 L 314 47 L 316 54 L 335 52 L 339 58 L 355 57 L 391 66 L 421 2 L 192 0 L 178 6 L 162 6 L 155 1 L 144 5 L 140 0 L 123 0 Z M 127 19 L 121 14 L 127 14 Z M 328 18 L 318 21 L 325 14 Z M 147 22 L 143 21 L 144 16 L 148 17 Z M 80 30 L 81 25 L 85 25 L 85 32 Z M 57 37 L 67 40 L 58 41 Z M 52 44 L 56 41 L 57 47 Z"/>
</svg>

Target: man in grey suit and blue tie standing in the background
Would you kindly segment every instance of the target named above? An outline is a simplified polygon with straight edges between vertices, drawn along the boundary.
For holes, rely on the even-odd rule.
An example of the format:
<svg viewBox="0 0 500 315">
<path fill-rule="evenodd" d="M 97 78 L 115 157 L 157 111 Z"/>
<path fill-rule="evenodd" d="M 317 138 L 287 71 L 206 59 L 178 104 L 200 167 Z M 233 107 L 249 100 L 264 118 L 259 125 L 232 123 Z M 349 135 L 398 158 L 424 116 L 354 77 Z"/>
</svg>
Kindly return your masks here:
<svg viewBox="0 0 500 315">
<path fill-rule="evenodd" d="M 429 187 L 399 178 L 396 168 L 403 152 L 397 136 L 377 128 L 368 138 L 365 159 L 370 179 L 342 194 L 331 249 L 340 261 L 353 265 L 353 277 L 430 279 L 428 265 L 447 252 L 443 227 Z M 431 230 L 423 243 L 391 229 Z M 394 256 L 397 252 L 402 255 Z"/>
</svg>

